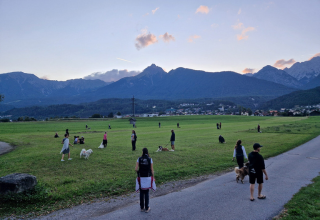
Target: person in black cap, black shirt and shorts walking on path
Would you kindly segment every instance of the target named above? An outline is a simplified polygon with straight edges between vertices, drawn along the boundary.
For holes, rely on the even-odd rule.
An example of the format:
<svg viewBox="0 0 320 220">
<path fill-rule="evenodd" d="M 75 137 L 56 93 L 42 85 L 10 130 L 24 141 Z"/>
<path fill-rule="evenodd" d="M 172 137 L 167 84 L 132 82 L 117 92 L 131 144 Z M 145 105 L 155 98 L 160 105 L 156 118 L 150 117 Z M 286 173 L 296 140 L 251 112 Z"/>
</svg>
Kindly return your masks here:
<svg viewBox="0 0 320 220">
<path fill-rule="evenodd" d="M 258 199 L 265 199 L 266 196 L 261 194 L 262 186 L 263 186 L 263 173 L 265 175 L 265 179 L 268 180 L 268 174 L 266 171 L 266 167 L 264 164 L 264 159 L 259 154 L 260 148 L 262 146 L 258 143 L 253 145 L 254 151 L 249 154 L 249 182 L 250 182 L 250 200 L 254 201 L 253 193 L 254 186 L 257 180 L 258 186 Z"/>
</svg>

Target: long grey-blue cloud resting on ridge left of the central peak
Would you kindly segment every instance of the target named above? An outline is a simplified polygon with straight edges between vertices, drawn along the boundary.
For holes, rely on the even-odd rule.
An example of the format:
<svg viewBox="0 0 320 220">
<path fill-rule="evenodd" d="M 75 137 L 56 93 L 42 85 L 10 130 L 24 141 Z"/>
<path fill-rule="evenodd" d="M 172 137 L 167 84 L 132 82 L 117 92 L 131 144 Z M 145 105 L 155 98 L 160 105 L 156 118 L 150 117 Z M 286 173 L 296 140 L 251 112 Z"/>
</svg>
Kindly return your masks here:
<svg viewBox="0 0 320 220">
<path fill-rule="evenodd" d="M 124 70 L 113 69 L 105 73 L 101 73 L 101 72 L 92 73 L 88 76 L 83 77 L 83 79 L 89 79 L 89 80 L 100 79 L 105 82 L 115 82 L 124 77 L 136 76 L 139 73 L 140 71 L 128 71 L 126 69 Z"/>
</svg>

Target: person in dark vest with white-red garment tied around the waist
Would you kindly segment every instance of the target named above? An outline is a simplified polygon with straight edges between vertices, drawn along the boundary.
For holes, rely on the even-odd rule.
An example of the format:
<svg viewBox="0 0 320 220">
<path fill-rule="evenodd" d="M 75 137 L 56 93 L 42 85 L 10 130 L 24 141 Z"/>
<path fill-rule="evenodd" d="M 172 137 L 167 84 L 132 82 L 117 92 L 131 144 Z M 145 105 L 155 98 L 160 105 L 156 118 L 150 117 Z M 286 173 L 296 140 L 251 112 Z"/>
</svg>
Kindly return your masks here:
<svg viewBox="0 0 320 220">
<path fill-rule="evenodd" d="M 138 158 L 135 170 L 138 174 L 137 182 L 139 187 L 138 190 L 140 190 L 141 212 L 149 212 L 149 189 L 154 189 L 155 179 L 153 172 L 153 161 L 149 156 L 147 148 L 142 149 L 142 156 Z"/>
</svg>

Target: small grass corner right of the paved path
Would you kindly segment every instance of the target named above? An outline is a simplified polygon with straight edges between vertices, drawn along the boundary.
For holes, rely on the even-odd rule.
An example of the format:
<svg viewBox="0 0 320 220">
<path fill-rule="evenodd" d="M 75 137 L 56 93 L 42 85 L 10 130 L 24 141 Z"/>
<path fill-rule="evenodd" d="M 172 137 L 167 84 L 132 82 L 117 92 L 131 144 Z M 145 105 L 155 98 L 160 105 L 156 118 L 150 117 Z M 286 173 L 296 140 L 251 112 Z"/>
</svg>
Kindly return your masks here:
<svg viewBox="0 0 320 220">
<path fill-rule="evenodd" d="M 280 219 L 320 219 L 320 176 L 293 196 L 285 205 Z"/>
</svg>

